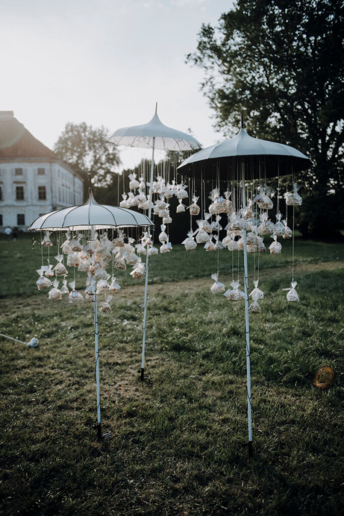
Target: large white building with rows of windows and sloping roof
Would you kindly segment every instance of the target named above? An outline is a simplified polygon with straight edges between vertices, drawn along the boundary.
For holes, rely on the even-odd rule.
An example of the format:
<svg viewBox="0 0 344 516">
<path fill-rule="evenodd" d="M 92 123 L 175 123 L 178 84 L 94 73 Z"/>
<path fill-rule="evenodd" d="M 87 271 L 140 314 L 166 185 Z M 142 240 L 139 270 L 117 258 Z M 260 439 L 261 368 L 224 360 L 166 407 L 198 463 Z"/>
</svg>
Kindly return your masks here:
<svg viewBox="0 0 344 516">
<path fill-rule="evenodd" d="M 23 133 L 14 143 L 11 131 L 4 135 L 8 121 Z M 84 201 L 80 176 L 23 127 L 12 111 L 0 111 L 1 232 L 7 226 L 26 230 L 40 215 Z"/>
</svg>

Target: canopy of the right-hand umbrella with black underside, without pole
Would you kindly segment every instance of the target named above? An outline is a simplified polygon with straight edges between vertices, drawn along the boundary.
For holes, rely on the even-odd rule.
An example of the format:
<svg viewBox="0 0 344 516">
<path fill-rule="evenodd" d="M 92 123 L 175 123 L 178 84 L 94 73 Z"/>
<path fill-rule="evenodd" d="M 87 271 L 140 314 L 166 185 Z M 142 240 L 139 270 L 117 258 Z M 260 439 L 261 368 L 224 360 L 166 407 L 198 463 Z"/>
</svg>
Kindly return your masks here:
<svg viewBox="0 0 344 516">
<path fill-rule="evenodd" d="M 297 149 L 283 143 L 253 138 L 241 127 L 239 133 L 231 140 L 212 145 L 189 156 L 179 165 L 178 170 L 188 175 L 203 168 L 208 177 L 214 176 L 216 172 L 221 179 L 227 179 L 228 167 L 237 160 L 247 163 L 251 179 L 259 178 L 260 175 L 273 178 L 310 166 L 310 159 Z"/>
</svg>

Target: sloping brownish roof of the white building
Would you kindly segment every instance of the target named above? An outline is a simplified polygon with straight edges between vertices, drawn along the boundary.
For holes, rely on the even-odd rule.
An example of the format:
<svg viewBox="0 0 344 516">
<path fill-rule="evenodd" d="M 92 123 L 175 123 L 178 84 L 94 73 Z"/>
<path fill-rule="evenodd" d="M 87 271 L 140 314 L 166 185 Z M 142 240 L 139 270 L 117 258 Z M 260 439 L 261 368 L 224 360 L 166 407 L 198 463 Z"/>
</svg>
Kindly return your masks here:
<svg viewBox="0 0 344 516">
<path fill-rule="evenodd" d="M 84 181 L 71 165 L 32 136 L 24 125 L 14 118 L 13 111 L 0 111 L 0 160 L 59 162 Z"/>
</svg>

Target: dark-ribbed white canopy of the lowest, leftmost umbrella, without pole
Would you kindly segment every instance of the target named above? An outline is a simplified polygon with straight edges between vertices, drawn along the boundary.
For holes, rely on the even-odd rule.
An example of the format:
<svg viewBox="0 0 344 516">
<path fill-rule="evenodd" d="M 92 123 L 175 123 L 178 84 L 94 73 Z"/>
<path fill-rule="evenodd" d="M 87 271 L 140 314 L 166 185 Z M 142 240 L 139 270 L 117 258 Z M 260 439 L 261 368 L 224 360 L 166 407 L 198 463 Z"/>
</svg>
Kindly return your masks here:
<svg viewBox="0 0 344 516">
<path fill-rule="evenodd" d="M 148 227 L 154 225 L 149 217 L 131 209 L 118 208 L 99 204 L 93 197 L 91 188 L 85 204 L 58 209 L 38 217 L 27 231 L 72 231 L 87 230 L 91 226 L 95 230 L 106 228 Z"/>
</svg>

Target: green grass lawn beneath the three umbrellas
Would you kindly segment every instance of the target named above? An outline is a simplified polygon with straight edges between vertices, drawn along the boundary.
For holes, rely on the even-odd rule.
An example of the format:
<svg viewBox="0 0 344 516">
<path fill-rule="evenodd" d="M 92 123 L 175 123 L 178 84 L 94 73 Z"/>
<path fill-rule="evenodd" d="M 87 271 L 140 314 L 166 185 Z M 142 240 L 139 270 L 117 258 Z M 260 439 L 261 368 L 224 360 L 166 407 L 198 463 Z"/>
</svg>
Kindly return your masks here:
<svg viewBox="0 0 344 516">
<path fill-rule="evenodd" d="M 40 341 L 36 349 L 0 341 L 2 514 L 340 514 L 343 245 L 296 242 L 299 303 L 282 291 L 290 243 L 280 256 L 261 256 L 249 459 L 244 305 L 210 293 L 217 253 L 174 246 L 152 257 L 144 383 L 143 281 L 118 273 L 112 313 L 99 315 L 102 426 L 111 438 L 98 443 L 93 305 L 48 301 L 36 287 L 38 247 L 27 238 L 0 244 L 0 331 Z M 228 287 L 226 250 L 219 270 Z M 335 377 L 319 390 L 322 366 Z"/>
</svg>

